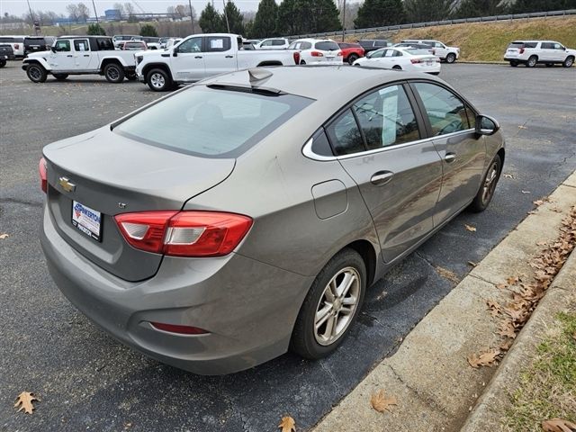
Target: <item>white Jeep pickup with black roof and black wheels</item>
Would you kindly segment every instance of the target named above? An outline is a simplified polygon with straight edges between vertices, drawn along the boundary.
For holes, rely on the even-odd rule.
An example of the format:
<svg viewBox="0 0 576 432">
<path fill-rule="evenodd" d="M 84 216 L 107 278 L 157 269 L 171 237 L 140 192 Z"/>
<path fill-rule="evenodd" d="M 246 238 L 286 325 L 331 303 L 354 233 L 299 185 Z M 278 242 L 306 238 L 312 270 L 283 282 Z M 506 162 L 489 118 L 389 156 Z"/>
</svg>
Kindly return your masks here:
<svg viewBox="0 0 576 432">
<path fill-rule="evenodd" d="M 61 36 L 49 51 L 24 58 L 22 68 L 33 83 L 43 83 L 49 74 L 58 81 L 86 74 L 103 75 L 110 83 L 136 79 L 134 51 L 114 49 L 106 36 Z"/>
</svg>

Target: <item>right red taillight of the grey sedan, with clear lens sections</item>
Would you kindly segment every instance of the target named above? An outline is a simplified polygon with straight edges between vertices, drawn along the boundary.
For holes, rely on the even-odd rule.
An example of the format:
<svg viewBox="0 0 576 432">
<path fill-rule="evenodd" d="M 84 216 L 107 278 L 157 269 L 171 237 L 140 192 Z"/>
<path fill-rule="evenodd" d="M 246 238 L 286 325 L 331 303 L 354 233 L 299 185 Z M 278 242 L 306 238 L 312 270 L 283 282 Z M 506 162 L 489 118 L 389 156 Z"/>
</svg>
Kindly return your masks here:
<svg viewBox="0 0 576 432">
<path fill-rule="evenodd" d="M 234 250 L 252 219 L 216 211 L 143 211 L 114 217 L 132 247 L 175 257 L 223 257 Z"/>
</svg>

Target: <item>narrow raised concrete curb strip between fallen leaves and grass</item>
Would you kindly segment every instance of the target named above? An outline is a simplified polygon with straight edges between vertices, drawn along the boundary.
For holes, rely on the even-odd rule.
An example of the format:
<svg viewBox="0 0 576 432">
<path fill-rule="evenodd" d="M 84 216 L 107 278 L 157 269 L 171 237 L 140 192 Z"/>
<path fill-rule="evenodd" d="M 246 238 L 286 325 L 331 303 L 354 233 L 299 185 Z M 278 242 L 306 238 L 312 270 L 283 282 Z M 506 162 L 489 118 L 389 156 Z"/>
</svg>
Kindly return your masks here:
<svg viewBox="0 0 576 432">
<path fill-rule="evenodd" d="M 509 394 L 518 386 L 518 375 L 529 365 L 545 330 L 554 326 L 555 315 L 576 302 L 576 252 L 572 252 L 544 299 L 520 331 L 498 371 L 482 393 L 461 432 L 500 430 Z"/>
</svg>

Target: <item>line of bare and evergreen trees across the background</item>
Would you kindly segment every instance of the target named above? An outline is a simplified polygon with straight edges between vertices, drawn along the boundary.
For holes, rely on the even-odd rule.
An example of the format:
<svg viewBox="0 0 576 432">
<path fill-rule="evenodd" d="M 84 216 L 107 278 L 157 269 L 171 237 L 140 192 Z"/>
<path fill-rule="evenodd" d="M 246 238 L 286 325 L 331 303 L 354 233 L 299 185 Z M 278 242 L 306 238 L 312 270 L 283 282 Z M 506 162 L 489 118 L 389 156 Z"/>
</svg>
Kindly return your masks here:
<svg viewBox="0 0 576 432">
<path fill-rule="evenodd" d="M 256 14 L 241 13 L 233 0 L 227 0 L 220 13 L 208 2 L 198 21 L 193 8 L 175 4 L 166 9 L 166 16 L 173 20 L 187 20 L 192 32 L 232 32 L 247 38 L 318 33 L 324 31 L 381 27 L 401 23 L 423 23 L 455 18 L 471 18 L 496 14 L 524 14 L 576 8 L 576 0 L 261 0 Z M 345 5 L 346 4 L 346 11 Z M 116 3 L 122 18 L 129 23 L 138 23 L 134 4 Z M 69 22 L 86 23 L 91 16 L 85 3 L 68 4 L 67 15 L 35 11 L 34 16 L 24 14 L 22 18 L 4 14 L 2 23 L 17 21 L 40 25 L 54 25 L 67 19 Z M 170 23 L 155 23 L 160 34 L 170 30 Z M 194 27 L 198 25 L 198 27 Z M 121 23 L 118 24 L 121 29 Z M 107 25 L 114 27 L 113 23 Z M 154 27 L 154 26 L 152 26 Z M 102 27 L 100 27 L 102 29 Z M 175 28 L 175 27 L 173 27 Z M 95 28 L 92 31 L 96 31 Z M 97 30 L 101 31 L 101 30 Z M 103 30 L 102 30 L 103 31 Z M 110 30 L 109 30 L 110 31 Z M 190 31 L 186 31 L 187 34 Z M 182 34 L 170 34 L 182 36 Z"/>
</svg>

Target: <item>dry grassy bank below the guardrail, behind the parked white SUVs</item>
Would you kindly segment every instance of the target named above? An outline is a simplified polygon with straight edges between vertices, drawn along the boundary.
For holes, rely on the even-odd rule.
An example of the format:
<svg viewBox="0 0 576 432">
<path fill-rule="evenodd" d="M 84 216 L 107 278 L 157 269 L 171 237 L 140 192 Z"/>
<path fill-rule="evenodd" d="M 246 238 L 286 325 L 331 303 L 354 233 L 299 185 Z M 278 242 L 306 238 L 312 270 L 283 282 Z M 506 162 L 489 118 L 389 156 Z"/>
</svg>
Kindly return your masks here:
<svg viewBox="0 0 576 432">
<path fill-rule="evenodd" d="M 370 39 L 374 34 L 362 35 Z M 460 48 L 461 60 L 503 61 L 504 51 L 512 40 L 558 40 L 576 49 L 576 16 L 542 18 L 499 23 L 466 23 L 384 33 L 395 42 L 404 39 L 436 39 Z M 347 37 L 356 41 L 359 36 Z"/>
</svg>

